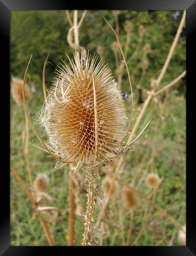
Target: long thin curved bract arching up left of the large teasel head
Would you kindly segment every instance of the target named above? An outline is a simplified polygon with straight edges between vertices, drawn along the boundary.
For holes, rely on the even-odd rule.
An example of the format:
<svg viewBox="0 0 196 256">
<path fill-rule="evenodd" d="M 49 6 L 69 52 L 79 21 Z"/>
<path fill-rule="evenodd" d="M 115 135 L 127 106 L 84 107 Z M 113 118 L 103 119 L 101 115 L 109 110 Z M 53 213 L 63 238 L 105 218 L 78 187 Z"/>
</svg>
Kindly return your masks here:
<svg viewBox="0 0 196 256">
<path fill-rule="evenodd" d="M 27 71 L 29 69 L 29 64 L 31 62 L 31 58 L 32 58 L 33 54 L 31 54 L 31 57 L 29 59 L 29 63 L 27 65 L 27 68 L 25 70 L 25 74 L 24 74 L 24 80 L 23 80 L 23 85 L 22 85 L 22 98 L 23 98 L 23 104 L 24 104 L 24 109 L 25 109 L 25 114 L 27 115 L 27 119 L 29 121 L 29 124 L 33 130 L 33 133 L 36 135 L 36 137 L 38 138 L 38 140 L 45 146 L 45 148 L 47 149 L 47 151 L 49 152 L 49 154 L 51 154 L 51 156 L 53 156 L 56 160 L 59 161 L 59 159 L 54 156 L 54 154 L 49 150 L 49 146 L 42 140 L 42 138 L 40 137 L 40 135 L 36 132 L 36 130 L 34 129 L 34 126 L 33 124 L 31 123 L 31 120 L 30 120 L 30 117 L 29 117 L 29 113 L 28 113 L 28 110 L 27 110 L 27 104 L 26 104 L 26 101 L 25 101 L 25 81 L 26 81 L 26 76 L 27 76 Z M 61 160 L 62 162 L 65 163 L 65 161 Z M 67 162 L 66 162 L 67 163 Z"/>
</svg>

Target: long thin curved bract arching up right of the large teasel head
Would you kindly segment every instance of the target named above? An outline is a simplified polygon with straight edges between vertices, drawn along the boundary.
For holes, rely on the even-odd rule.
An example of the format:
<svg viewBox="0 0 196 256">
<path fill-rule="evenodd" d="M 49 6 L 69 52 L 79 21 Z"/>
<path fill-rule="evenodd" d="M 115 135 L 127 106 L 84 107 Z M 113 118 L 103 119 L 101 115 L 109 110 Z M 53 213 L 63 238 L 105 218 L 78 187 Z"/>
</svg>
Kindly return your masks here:
<svg viewBox="0 0 196 256">
<path fill-rule="evenodd" d="M 103 19 L 107 22 L 107 20 L 104 17 L 103 17 Z M 129 78 L 129 85 L 130 85 L 130 89 L 131 89 L 131 95 L 133 95 L 132 85 L 131 85 L 131 78 L 130 78 L 130 74 L 129 74 L 129 69 L 128 69 L 128 66 L 127 66 L 127 61 L 126 61 L 125 56 L 124 56 L 123 51 L 122 51 L 122 47 L 120 45 L 120 41 L 119 41 L 118 36 L 116 35 L 114 29 L 112 28 L 112 26 L 108 22 L 107 22 L 107 24 L 110 26 L 111 30 L 113 31 L 113 33 L 116 36 L 116 39 L 118 41 L 118 45 L 120 47 L 120 51 L 121 51 L 121 54 L 122 54 L 122 57 L 123 57 L 123 61 L 125 61 L 124 63 L 125 63 L 126 69 L 127 69 L 127 75 L 128 75 L 128 78 Z M 130 119 L 130 122 L 129 122 L 129 127 L 128 127 L 127 132 L 126 132 L 126 134 L 125 134 L 125 136 L 122 139 L 120 144 L 122 144 L 125 141 L 125 139 L 127 138 L 127 135 L 129 134 L 129 131 L 131 129 L 131 123 L 132 123 L 132 117 L 133 117 L 133 106 L 134 106 L 133 98 L 131 98 L 131 102 L 132 102 L 132 106 L 131 106 L 131 119 Z"/>
</svg>

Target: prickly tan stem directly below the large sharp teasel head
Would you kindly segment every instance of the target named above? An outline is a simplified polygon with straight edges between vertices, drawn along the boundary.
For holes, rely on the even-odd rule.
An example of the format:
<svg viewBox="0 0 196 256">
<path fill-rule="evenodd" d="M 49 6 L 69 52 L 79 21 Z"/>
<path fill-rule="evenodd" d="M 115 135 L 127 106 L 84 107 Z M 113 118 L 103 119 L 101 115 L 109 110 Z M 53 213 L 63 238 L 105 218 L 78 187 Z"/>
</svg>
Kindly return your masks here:
<svg viewBox="0 0 196 256">
<path fill-rule="evenodd" d="M 89 246 L 95 241 L 95 229 L 93 227 L 94 206 L 98 195 L 100 195 L 99 169 L 88 169 L 85 171 L 87 185 L 87 208 L 85 213 L 85 230 L 83 234 L 83 246 Z"/>
</svg>

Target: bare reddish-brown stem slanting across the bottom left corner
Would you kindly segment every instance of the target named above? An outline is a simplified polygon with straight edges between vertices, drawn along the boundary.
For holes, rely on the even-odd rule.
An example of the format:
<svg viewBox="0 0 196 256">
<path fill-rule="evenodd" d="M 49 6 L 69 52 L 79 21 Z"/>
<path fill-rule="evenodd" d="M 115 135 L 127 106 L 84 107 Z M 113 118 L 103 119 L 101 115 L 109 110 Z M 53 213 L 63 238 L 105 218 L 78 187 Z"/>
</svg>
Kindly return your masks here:
<svg viewBox="0 0 196 256">
<path fill-rule="evenodd" d="M 34 210 L 38 213 L 38 216 L 40 218 L 40 222 L 42 224 L 42 228 L 43 228 L 43 230 L 45 232 L 45 235 L 47 237 L 47 241 L 48 241 L 49 245 L 54 246 L 55 245 L 54 244 L 54 240 L 53 240 L 53 238 L 51 237 L 51 235 L 50 235 L 50 233 L 48 231 L 47 225 L 45 223 L 45 220 L 44 220 L 42 214 L 37 210 L 37 205 L 36 205 L 32 195 L 31 195 L 31 193 L 29 192 L 29 190 L 25 186 L 24 182 L 22 181 L 22 179 L 20 178 L 19 174 L 17 173 L 17 171 L 15 170 L 15 168 L 13 167 L 12 164 L 11 164 L 11 172 L 14 174 L 16 180 L 18 180 L 18 182 L 20 183 L 21 187 L 24 189 L 27 197 L 29 197 L 29 199 L 30 199 L 30 201 L 31 201 L 31 203 L 33 205 Z"/>
</svg>

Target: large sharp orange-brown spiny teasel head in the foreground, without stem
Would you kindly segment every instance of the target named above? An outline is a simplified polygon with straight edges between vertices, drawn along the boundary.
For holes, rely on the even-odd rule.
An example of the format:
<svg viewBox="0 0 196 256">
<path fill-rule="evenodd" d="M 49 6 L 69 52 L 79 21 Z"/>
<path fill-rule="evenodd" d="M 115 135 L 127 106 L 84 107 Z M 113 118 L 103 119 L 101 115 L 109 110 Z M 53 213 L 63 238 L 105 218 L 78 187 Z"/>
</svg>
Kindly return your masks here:
<svg viewBox="0 0 196 256">
<path fill-rule="evenodd" d="M 104 61 L 96 65 L 84 48 L 69 61 L 56 71 L 42 122 L 57 158 L 92 166 L 125 136 L 125 106 Z"/>
</svg>

